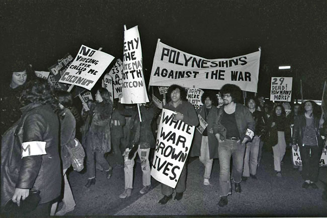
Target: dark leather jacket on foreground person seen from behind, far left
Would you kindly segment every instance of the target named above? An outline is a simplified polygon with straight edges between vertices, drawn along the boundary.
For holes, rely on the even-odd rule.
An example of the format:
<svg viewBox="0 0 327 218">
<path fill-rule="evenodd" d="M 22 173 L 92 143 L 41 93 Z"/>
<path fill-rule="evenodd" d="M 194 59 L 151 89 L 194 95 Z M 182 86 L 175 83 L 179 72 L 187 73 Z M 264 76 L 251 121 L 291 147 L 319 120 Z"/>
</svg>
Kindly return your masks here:
<svg viewBox="0 0 327 218">
<path fill-rule="evenodd" d="M 61 190 L 58 116 L 50 105 L 36 103 L 21 111 L 21 119 L 2 138 L 2 204 L 14 195 L 15 188 L 40 190 L 40 203 L 46 203 Z M 45 142 L 46 154 L 35 154 L 38 142 Z"/>
</svg>

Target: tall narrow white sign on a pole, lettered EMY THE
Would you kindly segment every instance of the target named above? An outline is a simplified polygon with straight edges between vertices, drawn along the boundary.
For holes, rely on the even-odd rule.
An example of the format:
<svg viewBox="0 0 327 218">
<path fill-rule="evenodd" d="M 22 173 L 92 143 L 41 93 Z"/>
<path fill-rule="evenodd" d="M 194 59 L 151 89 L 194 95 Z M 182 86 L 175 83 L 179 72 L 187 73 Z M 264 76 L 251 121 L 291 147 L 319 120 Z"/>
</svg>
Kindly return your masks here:
<svg viewBox="0 0 327 218">
<path fill-rule="evenodd" d="M 136 26 L 124 32 L 121 103 L 135 104 L 146 102 L 149 102 L 149 99 L 143 78 L 141 40 Z"/>
</svg>

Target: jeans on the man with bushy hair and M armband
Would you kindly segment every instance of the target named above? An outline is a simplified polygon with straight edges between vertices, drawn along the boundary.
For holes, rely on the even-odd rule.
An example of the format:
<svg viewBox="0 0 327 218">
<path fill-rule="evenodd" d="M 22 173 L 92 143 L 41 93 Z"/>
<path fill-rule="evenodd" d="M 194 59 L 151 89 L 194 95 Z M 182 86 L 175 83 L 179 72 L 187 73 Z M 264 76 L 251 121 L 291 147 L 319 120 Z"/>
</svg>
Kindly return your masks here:
<svg viewBox="0 0 327 218">
<path fill-rule="evenodd" d="M 219 186 L 220 194 L 219 196 L 227 196 L 231 194 L 230 185 L 230 157 L 233 157 L 233 169 L 232 177 L 234 182 L 241 182 L 243 162 L 244 162 L 244 152 L 246 146 L 241 145 L 240 140 L 232 141 L 225 139 L 219 142 L 218 146 L 218 156 L 219 156 Z"/>
</svg>

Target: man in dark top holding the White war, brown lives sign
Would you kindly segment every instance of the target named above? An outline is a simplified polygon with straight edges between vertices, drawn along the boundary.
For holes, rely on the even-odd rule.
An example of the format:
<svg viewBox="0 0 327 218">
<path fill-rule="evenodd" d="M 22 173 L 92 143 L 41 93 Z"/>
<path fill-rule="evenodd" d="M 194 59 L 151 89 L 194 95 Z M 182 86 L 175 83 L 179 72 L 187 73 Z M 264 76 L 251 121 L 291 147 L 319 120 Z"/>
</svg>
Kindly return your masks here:
<svg viewBox="0 0 327 218">
<path fill-rule="evenodd" d="M 170 101 L 163 106 L 163 108 L 176 112 L 176 114 L 173 115 L 173 119 L 182 120 L 186 124 L 197 126 L 199 124 L 199 119 L 193 105 L 186 99 L 187 92 L 185 88 L 179 85 L 171 85 L 167 94 L 170 97 Z M 158 119 L 160 119 L 160 116 L 161 115 L 159 115 Z M 175 187 L 176 200 L 182 199 L 186 189 L 186 169 L 187 165 L 184 164 L 179 181 Z M 161 183 L 161 193 L 164 196 L 159 200 L 159 203 L 166 204 L 173 197 L 173 188 Z"/>
</svg>

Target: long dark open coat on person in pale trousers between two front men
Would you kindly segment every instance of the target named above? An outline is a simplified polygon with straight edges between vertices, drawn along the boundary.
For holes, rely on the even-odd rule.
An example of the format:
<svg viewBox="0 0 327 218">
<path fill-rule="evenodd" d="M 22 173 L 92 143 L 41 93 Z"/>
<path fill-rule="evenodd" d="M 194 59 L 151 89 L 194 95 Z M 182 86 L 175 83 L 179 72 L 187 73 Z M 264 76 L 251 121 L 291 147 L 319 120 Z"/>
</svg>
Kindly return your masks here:
<svg viewBox="0 0 327 218">
<path fill-rule="evenodd" d="M 205 117 L 205 106 L 202 106 L 197 110 L 197 113 L 201 115 L 204 119 Z M 215 137 L 215 134 L 218 132 L 210 133 L 210 129 L 213 129 L 213 123 L 218 119 L 218 108 L 215 106 L 211 107 L 211 110 L 207 116 L 206 122 L 208 123 L 207 132 L 208 132 L 208 144 L 209 144 L 209 156 L 210 159 L 218 158 L 218 140 Z M 200 156 L 201 155 L 201 142 L 202 142 L 202 134 L 196 129 L 194 132 L 193 145 L 191 148 L 191 157 Z"/>
</svg>

